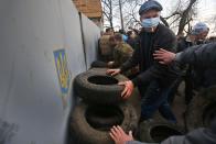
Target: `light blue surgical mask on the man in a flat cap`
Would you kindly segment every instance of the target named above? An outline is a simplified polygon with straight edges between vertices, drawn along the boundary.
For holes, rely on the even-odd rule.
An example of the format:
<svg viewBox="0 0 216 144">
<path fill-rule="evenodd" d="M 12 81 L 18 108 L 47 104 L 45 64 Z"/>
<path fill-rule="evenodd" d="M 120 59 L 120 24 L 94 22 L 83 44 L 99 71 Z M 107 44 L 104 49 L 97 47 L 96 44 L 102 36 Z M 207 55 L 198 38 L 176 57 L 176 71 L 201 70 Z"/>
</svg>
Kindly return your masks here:
<svg viewBox="0 0 216 144">
<path fill-rule="evenodd" d="M 156 16 L 156 18 L 143 19 L 141 24 L 143 27 L 149 29 L 149 27 L 158 26 L 159 22 L 160 22 L 160 18 Z"/>
</svg>

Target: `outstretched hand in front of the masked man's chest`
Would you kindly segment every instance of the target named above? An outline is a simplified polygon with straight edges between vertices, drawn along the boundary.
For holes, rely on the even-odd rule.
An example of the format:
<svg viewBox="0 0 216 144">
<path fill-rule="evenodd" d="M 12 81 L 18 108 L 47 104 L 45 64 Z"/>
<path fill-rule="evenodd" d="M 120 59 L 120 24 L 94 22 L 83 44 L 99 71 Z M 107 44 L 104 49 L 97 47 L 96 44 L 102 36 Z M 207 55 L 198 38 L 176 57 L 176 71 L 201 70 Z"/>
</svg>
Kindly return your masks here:
<svg viewBox="0 0 216 144">
<path fill-rule="evenodd" d="M 175 55 L 172 52 L 160 48 L 160 51 L 155 51 L 153 54 L 154 59 L 159 60 L 160 64 L 169 65 L 175 59 Z"/>
</svg>

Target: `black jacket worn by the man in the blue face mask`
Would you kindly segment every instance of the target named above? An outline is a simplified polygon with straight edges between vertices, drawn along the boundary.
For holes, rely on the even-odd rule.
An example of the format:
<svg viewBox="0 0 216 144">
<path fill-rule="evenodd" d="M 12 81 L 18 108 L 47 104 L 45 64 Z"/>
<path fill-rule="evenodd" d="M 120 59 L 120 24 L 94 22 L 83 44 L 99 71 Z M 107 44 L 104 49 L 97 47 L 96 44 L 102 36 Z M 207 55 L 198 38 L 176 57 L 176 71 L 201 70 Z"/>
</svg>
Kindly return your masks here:
<svg viewBox="0 0 216 144">
<path fill-rule="evenodd" d="M 164 85 L 170 85 L 176 79 L 179 70 L 176 65 L 165 66 L 153 59 L 154 51 L 165 48 L 175 52 L 176 36 L 166 26 L 160 24 L 154 33 L 142 31 L 136 44 L 132 57 L 121 66 L 121 71 L 126 71 L 131 67 L 139 65 L 140 75 L 132 82 L 137 86 L 147 85 L 152 79 L 158 79 Z"/>
</svg>

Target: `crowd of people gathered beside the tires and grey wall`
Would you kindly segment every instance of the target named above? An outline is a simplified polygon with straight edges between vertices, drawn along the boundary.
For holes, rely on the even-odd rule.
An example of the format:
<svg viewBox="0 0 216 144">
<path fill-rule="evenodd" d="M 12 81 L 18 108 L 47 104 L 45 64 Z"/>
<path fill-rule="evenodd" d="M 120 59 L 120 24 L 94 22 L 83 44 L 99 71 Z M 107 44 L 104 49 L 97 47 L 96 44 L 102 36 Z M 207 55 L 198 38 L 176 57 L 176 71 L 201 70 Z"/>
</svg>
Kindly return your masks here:
<svg viewBox="0 0 216 144">
<path fill-rule="evenodd" d="M 121 73 L 129 77 L 128 81 L 119 84 L 125 86 L 123 99 L 138 87 L 142 98 L 140 122 L 152 119 L 159 110 L 163 118 L 176 124 L 170 104 L 180 84 L 185 81 L 186 104 L 190 104 L 194 91 L 216 85 L 216 41 L 215 37 L 206 38 L 209 27 L 203 22 L 196 23 L 186 36 L 176 36 L 160 23 L 162 9 L 159 2 L 147 1 L 139 10 L 142 29 L 130 27 L 128 32 L 106 29 L 99 40 L 100 62 L 94 65 L 107 67 L 108 75 Z M 171 137 L 162 144 L 216 143 L 215 126 L 213 122 L 210 132 L 206 130 L 210 134 L 197 130 L 190 136 Z M 114 126 L 110 136 L 116 144 L 140 144 L 120 126 Z"/>
</svg>

